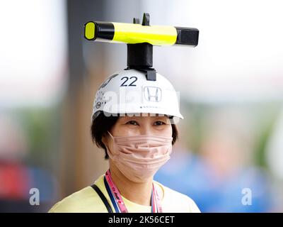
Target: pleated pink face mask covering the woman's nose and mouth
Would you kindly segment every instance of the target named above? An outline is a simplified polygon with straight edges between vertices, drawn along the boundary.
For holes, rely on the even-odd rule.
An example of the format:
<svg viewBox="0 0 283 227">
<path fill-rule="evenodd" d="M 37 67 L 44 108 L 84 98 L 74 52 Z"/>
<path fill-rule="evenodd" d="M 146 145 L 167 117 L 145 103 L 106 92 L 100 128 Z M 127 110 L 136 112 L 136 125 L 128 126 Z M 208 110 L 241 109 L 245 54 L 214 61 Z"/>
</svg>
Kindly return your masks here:
<svg viewBox="0 0 283 227">
<path fill-rule="evenodd" d="M 145 182 L 170 159 L 172 137 L 158 135 L 114 137 L 111 134 L 110 137 L 113 140 L 113 147 L 107 148 L 109 157 L 122 174 L 133 182 Z"/>
</svg>

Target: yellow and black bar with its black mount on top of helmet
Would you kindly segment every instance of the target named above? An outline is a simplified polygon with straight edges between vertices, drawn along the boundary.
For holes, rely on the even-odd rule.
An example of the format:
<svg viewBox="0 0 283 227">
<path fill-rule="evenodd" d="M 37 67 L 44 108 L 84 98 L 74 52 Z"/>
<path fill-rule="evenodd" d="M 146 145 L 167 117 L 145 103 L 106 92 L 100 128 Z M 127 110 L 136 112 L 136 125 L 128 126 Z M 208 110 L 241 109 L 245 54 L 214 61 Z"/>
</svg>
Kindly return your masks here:
<svg viewBox="0 0 283 227">
<path fill-rule="evenodd" d="M 197 28 L 149 26 L 149 13 L 144 13 L 142 24 L 89 21 L 84 25 L 84 37 L 107 43 L 127 43 L 127 69 L 146 72 L 146 79 L 156 80 L 153 65 L 154 45 L 197 46 Z"/>
</svg>

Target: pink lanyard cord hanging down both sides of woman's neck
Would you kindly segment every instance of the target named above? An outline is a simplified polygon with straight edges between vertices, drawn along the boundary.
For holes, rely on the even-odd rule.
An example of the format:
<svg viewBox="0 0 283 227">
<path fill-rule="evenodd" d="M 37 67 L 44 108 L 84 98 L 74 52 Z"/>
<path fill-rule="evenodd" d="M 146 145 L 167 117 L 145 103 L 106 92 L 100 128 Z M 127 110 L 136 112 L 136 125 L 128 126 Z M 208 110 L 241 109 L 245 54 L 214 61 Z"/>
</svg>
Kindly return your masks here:
<svg viewBox="0 0 283 227">
<path fill-rule="evenodd" d="M 116 213 L 128 213 L 129 211 L 126 208 L 126 205 L 120 195 L 119 190 L 115 186 L 114 182 L 112 181 L 110 170 L 105 173 L 104 176 L 104 184 L 106 191 L 110 197 L 112 205 L 114 206 Z M 151 213 L 161 213 L 161 202 L 156 189 L 154 188 L 154 183 L 152 184 L 152 192 L 151 192 Z"/>
</svg>

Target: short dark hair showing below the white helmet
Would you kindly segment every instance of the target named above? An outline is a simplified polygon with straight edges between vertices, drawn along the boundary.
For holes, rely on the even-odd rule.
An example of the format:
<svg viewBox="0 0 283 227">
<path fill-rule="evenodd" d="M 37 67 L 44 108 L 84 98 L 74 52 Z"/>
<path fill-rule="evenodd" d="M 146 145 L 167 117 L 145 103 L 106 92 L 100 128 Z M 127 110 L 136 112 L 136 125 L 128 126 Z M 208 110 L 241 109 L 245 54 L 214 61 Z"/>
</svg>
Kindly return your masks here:
<svg viewBox="0 0 283 227">
<path fill-rule="evenodd" d="M 105 160 L 107 160 L 108 154 L 105 148 L 104 143 L 102 142 L 103 136 L 108 135 L 108 131 L 111 130 L 112 126 L 115 125 L 116 121 L 118 120 L 119 116 L 105 116 L 103 113 L 99 114 L 91 124 L 91 137 L 93 143 L 96 143 L 98 148 L 103 148 L 105 151 Z M 171 124 L 172 126 L 172 145 L 178 139 L 178 129 L 175 124 Z"/>
</svg>

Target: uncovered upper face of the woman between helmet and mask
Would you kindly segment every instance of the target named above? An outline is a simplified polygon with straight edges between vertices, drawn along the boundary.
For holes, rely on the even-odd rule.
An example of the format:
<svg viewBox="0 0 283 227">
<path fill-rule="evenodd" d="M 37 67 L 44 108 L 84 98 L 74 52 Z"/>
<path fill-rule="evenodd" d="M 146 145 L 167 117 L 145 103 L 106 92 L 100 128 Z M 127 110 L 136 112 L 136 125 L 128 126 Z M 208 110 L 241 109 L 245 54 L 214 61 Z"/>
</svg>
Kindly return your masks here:
<svg viewBox="0 0 283 227">
<path fill-rule="evenodd" d="M 110 133 L 113 136 L 159 135 L 171 137 L 172 126 L 168 116 L 120 116 Z M 103 143 L 112 143 L 112 140 L 106 139 L 103 140 Z"/>
</svg>

